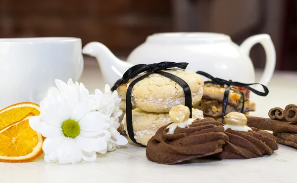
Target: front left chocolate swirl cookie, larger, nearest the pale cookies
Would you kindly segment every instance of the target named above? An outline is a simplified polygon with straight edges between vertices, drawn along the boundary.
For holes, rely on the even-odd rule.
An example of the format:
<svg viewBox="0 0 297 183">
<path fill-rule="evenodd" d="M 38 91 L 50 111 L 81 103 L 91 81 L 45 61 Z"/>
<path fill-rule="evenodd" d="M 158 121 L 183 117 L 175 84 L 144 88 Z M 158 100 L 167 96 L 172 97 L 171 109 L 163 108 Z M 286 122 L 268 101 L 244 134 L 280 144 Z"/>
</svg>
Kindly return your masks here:
<svg viewBox="0 0 297 183">
<path fill-rule="evenodd" d="M 147 157 L 161 164 L 175 164 L 222 151 L 228 141 L 223 124 L 212 118 L 196 120 L 189 128 L 177 127 L 173 135 L 168 125 L 161 127 L 148 141 Z"/>
</svg>

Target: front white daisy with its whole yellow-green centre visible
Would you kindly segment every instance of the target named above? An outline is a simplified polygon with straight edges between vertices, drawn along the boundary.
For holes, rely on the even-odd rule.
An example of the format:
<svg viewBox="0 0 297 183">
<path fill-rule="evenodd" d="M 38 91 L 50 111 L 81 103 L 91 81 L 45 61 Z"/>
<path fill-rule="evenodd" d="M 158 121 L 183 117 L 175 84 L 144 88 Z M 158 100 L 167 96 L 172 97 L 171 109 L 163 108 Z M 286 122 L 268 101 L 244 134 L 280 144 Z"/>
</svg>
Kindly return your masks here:
<svg viewBox="0 0 297 183">
<path fill-rule="evenodd" d="M 60 164 L 96 161 L 97 153 L 105 153 L 105 131 L 110 128 L 110 118 L 94 110 L 95 101 L 82 83 L 67 84 L 55 80 L 48 96 L 40 103 L 41 113 L 29 120 L 31 128 L 44 137 L 43 151 L 46 162 Z"/>
</svg>

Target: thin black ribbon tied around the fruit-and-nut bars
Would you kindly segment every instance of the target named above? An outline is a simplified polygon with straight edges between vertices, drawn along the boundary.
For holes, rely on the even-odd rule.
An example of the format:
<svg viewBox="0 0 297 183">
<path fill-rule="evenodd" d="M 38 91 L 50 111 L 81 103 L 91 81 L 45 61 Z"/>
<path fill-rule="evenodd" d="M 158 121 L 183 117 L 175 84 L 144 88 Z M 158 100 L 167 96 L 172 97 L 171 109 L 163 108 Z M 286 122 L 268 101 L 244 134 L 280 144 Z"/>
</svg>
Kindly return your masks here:
<svg viewBox="0 0 297 183">
<path fill-rule="evenodd" d="M 227 88 L 225 89 L 225 92 L 224 92 L 224 98 L 223 98 L 222 118 L 224 118 L 224 115 L 225 115 L 225 112 L 226 112 L 226 108 L 227 108 L 227 104 L 228 104 L 228 98 L 229 98 L 229 91 L 230 91 L 230 88 L 232 86 L 239 86 L 239 87 L 247 88 L 248 90 L 250 90 L 251 92 L 253 92 L 254 94 L 259 95 L 259 96 L 267 96 L 268 93 L 269 93 L 268 88 L 266 86 L 264 86 L 263 84 L 260 84 L 260 83 L 246 84 L 246 83 L 241 83 L 241 82 L 235 82 L 235 81 L 232 81 L 232 80 L 227 81 L 225 79 L 213 77 L 212 75 L 210 75 L 208 73 L 204 73 L 202 71 L 198 71 L 196 73 L 211 79 L 210 81 L 205 81 L 204 83 L 217 84 L 217 85 L 221 85 L 221 86 L 227 85 Z M 264 92 L 260 92 L 260 91 L 255 90 L 255 89 L 250 87 L 250 85 L 254 85 L 254 84 L 260 84 L 263 87 Z M 233 88 L 233 89 L 237 89 L 237 88 Z M 244 92 L 242 90 L 240 90 L 240 89 L 237 89 L 237 90 L 240 91 L 242 96 L 243 96 L 243 101 L 242 101 L 243 106 L 242 106 L 242 109 L 241 109 L 241 112 L 243 112 L 244 108 L 245 108 L 245 94 L 244 94 Z"/>
</svg>

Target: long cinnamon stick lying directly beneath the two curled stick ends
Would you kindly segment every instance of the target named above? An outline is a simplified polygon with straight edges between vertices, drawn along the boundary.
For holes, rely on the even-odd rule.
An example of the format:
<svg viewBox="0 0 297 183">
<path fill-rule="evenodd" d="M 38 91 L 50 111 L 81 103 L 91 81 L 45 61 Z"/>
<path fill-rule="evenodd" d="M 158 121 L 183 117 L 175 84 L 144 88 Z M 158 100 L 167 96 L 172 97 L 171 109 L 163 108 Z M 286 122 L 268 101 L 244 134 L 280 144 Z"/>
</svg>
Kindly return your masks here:
<svg viewBox="0 0 297 183">
<path fill-rule="evenodd" d="M 247 115 L 247 125 L 261 130 L 270 130 L 275 134 L 278 132 L 297 133 L 297 125 L 270 118 Z"/>
</svg>

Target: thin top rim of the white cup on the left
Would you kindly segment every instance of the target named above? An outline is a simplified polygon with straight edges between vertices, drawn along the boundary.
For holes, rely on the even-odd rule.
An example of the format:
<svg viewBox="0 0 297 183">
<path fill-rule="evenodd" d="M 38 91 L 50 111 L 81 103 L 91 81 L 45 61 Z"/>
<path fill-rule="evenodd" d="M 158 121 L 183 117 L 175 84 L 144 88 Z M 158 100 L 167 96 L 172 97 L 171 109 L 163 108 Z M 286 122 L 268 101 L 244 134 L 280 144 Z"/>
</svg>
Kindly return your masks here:
<svg viewBox="0 0 297 183">
<path fill-rule="evenodd" d="M 0 38 L 1 42 L 28 43 L 28 42 L 69 42 L 81 40 L 78 37 L 20 37 L 20 38 Z"/>
</svg>

